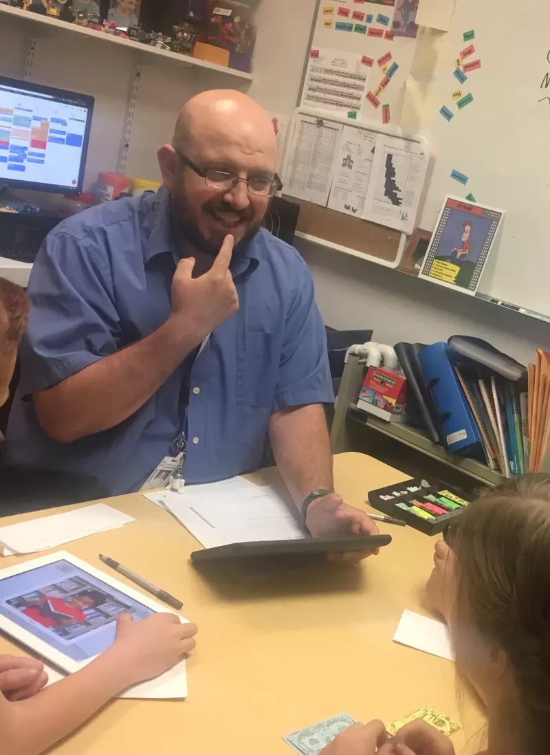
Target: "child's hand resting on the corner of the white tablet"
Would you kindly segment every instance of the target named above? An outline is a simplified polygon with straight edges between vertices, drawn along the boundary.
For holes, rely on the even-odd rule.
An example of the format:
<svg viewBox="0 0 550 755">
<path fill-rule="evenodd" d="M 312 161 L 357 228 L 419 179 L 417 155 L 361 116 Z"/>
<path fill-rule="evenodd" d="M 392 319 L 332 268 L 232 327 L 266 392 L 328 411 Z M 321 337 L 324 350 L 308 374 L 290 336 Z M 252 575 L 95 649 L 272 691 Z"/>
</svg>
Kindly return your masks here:
<svg viewBox="0 0 550 755">
<path fill-rule="evenodd" d="M 174 614 L 159 613 L 134 622 L 131 614 L 118 617 L 115 642 L 107 651 L 128 686 L 154 679 L 175 666 L 195 647 L 195 624 L 181 624 Z"/>
</svg>

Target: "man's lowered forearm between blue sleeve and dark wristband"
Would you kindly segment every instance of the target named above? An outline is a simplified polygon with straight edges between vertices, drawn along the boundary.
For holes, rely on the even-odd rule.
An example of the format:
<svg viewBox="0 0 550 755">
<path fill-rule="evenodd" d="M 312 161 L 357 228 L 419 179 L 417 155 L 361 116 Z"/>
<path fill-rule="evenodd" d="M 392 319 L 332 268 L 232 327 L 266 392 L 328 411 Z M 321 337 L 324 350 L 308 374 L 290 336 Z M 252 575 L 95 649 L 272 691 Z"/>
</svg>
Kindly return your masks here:
<svg viewBox="0 0 550 755">
<path fill-rule="evenodd" d="M 269 423 L 269 439 L 298 509 L 315 488 L 333 490 L 333 458 L 321 404 L 276 411 Z"/>
</svg>

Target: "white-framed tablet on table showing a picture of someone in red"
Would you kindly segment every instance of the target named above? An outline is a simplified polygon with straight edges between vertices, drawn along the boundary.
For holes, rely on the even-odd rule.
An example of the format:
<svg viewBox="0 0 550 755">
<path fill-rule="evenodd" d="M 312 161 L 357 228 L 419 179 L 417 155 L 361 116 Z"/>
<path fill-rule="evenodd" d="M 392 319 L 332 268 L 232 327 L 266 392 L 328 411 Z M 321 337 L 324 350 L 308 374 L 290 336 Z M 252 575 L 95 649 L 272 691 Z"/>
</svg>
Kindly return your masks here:
<svg viewBox="0 0 550 755">
<path fill-rule="evenodd" d="M 168 612 L 156 600 L 64 551 L 0 570 L 0 630 L 69 673 L 112 645 L 121 614 L 131 613 L 140 621 Z M 120 696 L 185 698 L 185 661 Z"/>
</svg>

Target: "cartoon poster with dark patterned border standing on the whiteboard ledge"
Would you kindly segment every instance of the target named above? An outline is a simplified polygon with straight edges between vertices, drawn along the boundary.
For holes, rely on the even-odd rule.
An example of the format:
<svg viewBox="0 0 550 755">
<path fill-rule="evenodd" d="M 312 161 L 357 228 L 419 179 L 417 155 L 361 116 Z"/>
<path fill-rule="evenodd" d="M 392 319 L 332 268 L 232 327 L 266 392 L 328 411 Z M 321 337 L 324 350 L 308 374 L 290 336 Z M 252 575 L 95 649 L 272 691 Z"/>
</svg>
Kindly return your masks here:
<svg viewBox="0 0 550 755">
<path fill-rule="evenodd" d="M 475 294 L 504 211 L 447 196 L 419 277 Z"/>
</svg>

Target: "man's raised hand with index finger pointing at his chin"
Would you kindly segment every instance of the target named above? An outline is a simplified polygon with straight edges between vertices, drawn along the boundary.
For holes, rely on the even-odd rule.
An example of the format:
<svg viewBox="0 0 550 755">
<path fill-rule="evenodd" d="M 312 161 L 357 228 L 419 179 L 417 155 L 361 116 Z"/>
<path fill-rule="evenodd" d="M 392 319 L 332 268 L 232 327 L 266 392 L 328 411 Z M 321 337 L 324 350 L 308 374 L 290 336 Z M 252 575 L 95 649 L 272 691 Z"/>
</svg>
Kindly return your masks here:
<svg viewBox="0 0 550 755">
<path fill-rule="evenodd" d="M 229 263 L 235 239 L 226 236 L 214 264 L 200 278 L 193 278 L 195 260 L 180 260 L 172 280 L 172 316 L 197 332 L 198 342 L 238 310 L 238 294 Z"/>
</svg>

